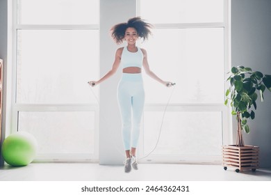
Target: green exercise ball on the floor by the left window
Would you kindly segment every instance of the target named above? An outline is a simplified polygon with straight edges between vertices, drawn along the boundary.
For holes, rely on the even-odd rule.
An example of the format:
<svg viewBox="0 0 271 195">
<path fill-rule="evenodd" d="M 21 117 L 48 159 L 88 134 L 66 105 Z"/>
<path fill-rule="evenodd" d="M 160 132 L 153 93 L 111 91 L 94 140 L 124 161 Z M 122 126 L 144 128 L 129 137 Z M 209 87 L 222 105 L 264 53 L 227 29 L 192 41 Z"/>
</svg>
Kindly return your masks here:
<svg viewBox="0 0 271 195">
<path fill-rule="evenodd" d="M 2 144 L 3 159 L 11 166 L 26 166 L 31 163 L 37 150 L 37 141 L 28 132 L 10 134 Z"/>
</svg>

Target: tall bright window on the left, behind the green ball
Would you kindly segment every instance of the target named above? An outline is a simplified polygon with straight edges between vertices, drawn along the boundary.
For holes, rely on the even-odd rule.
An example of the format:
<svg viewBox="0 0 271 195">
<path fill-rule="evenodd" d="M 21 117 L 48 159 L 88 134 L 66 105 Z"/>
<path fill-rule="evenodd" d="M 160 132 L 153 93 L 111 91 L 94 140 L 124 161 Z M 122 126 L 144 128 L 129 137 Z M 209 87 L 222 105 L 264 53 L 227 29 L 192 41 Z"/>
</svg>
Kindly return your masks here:
<svg viewBox="0 0 271 195">
<path fill-rule="evenodd" d="M 99 0 L 15 2 L 13 129 L 38 160 L 98 159 Z"/>
</svg>

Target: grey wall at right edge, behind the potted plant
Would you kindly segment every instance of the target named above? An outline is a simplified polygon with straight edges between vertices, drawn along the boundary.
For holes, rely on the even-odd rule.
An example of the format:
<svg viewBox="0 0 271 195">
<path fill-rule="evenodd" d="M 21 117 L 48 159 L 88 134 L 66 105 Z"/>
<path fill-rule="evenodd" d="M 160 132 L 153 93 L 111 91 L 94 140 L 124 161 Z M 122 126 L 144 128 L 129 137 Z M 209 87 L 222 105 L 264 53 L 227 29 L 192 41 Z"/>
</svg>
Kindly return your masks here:
<svg viewBox="0 0 271 195">
<path fill-rule="evenodd" d="M 231 1 L 231 65 L 271 75 L 270 21 L 270 0 Z M 264 98 L 257 102 L 256 118 L 249 122 L 251 132 L 244 139 L 245 144 L 260 147 L 260 166 L 271 168 L 271 92 L 266 91 Z"/>
</svg>

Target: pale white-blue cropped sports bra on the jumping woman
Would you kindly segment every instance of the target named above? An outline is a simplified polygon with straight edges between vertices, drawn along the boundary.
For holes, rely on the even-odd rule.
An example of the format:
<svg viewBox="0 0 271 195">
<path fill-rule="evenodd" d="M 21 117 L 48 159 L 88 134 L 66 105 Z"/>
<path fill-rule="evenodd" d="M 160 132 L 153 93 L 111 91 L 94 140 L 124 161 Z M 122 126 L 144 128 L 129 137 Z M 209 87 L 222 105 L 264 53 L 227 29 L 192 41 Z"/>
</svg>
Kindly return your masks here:
<svg viewBox="0 0 271 195">
<path fill-rule="evenodd" d="M 137 52 L 129 52 L 127 47 L 123 48 L 121 65 L 122 69 L 127 67 L 142 68 L 143 53 L 139 47 Z"/>
</svg>

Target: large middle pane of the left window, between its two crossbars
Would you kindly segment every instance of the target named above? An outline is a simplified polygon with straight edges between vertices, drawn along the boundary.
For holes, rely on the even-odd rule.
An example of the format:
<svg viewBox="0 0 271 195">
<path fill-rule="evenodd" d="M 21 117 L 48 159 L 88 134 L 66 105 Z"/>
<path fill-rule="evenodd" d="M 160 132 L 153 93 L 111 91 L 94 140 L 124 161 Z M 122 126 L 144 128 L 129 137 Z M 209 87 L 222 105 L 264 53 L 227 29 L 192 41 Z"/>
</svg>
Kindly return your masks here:
<svg viewBox="0 0 271 195">
<path fill-rule="evenodd" d="M 18 30 L 17 49 L 17 103 L 97 103 L 98 30 Z"/>
</svg>

